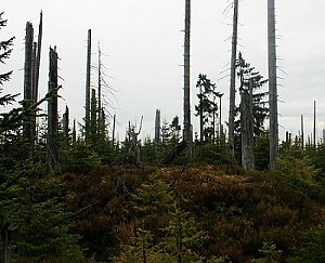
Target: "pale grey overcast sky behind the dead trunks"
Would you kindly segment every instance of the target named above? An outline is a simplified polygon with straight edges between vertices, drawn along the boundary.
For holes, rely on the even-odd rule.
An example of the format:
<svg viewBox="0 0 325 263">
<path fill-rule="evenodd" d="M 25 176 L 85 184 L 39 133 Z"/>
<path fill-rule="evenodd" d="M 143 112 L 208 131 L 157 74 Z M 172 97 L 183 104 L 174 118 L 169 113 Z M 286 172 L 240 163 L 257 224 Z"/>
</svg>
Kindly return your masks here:
<svg viewBox="0 0 325 263">
<path fill-rule="evenodd" d="M 67 104 L 70 118 L 83 116 L 87 30 L 92 29 L 92 84 L 96 87 L 98 42 L 103 64 L 110 77 L 106 81 L 116 90 L 108 92 L 108 110 L 117 115 L 120 140 L 128 121 L 140 122 L 143 135 L 154 133 L 155 109 L 171 122 L 183 118 L 183 32 L 184 0 L 11 0 L 1 10 L 8 27 L 0 38 L 15 36 L 12 57 L 1 71 L 13 69 L 5 92 L 23 92 L 24 37 L 26 22 L 37 35 L 39 13 L 43 11 L 43 45 L 40 95 L 47 92 L 48 53 L 57 47 L 60 101 Z M 266 0 L 239 1 L 239 47 L 243 56 L 268 78 Z M 280 84 L 280 133 L 298 134 L 300 115 L 306 118 L 306 133 L 312 132 L 313 101 L 317 101 L 317 135 L 325 128 L 325 1 L 276 0 Z M 198 74 L 207 74 L 223 96 L 223 120 L 227 119 L 232 15 L 230 0 L 192 1 L 191 84 L 192 113 L 196 100 Z M 268 89 L 268 87 L 265 87 Z M 197 118 L 193 116 L 194 131 Z"/>
</svg>

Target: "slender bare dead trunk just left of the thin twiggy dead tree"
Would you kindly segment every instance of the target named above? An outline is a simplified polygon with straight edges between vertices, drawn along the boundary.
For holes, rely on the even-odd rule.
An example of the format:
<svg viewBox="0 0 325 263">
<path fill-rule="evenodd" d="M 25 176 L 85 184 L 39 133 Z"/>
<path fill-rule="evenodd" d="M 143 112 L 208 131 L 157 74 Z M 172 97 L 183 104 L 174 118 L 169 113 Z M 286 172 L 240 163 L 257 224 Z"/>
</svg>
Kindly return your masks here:
<svg viewBox="0 0 325 263">
<path fill-rule="evenodd" d="M 86 141 L 88 141 L 90 136 L 90 75 L 91 75 L 91 29 L 88 29 L 87 73 L 86 73 L 86 116 L 84 116 Z"/>
</svg>

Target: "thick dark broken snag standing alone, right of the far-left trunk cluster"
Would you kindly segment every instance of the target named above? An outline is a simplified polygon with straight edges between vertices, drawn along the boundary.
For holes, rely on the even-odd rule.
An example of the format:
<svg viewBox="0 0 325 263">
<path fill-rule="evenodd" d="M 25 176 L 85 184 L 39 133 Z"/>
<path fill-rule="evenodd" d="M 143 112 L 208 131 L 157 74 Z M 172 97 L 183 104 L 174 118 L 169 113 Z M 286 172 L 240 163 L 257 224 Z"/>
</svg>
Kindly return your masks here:
<svg viewBox="0 0 325 263">
<path fill-rule="evenodd" d="M 50 48 L 49 92 L 48 101 L 48 165 L 49 172 L 55 173 L 57 168 L 57 53 Z"/>
</svg>

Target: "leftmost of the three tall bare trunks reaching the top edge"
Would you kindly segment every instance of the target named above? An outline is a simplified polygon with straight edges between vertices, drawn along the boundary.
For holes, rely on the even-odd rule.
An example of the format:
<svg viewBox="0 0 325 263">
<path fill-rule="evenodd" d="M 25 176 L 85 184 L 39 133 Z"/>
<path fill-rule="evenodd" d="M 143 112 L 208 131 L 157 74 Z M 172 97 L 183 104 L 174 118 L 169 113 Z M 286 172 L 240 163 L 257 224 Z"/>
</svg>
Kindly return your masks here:
<svg viewBox="0 0 325 263">
<path fill-rule="evenodd" d="M 191 52 L 191 0 L 185 0 L 185 37 L 184 37 L 184 131 L 183 140 L 186 142 L 190 154 L 192 153 L 192 124 L 190 105 L 190 55 Z"/>
</svg>

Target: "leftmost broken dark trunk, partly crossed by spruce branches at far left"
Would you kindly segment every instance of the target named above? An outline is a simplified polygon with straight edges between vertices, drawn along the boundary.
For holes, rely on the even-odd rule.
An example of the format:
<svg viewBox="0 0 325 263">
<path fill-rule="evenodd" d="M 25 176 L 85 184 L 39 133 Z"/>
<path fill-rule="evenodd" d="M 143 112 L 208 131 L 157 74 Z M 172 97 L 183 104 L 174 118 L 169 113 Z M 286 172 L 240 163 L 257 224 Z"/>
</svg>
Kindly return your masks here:
<svg viewBox="0 0 325 263">
<path fill-rule="evenodd" d="M 25 68 L 24 68 L 24 100 L 26 106 L 32 103 L 32 48 L 34 48 L 34 28 L 30 22 L 26 23 L 25 37 Z M 28 123 L 24 124 L 24 137 L 32 142 L 32 118 Z"/>
</svg>

